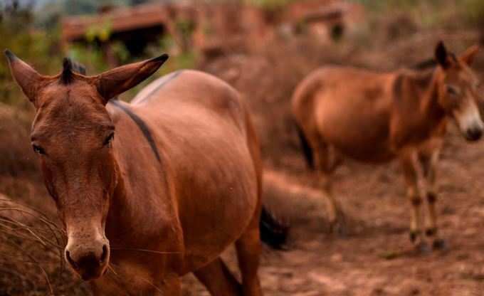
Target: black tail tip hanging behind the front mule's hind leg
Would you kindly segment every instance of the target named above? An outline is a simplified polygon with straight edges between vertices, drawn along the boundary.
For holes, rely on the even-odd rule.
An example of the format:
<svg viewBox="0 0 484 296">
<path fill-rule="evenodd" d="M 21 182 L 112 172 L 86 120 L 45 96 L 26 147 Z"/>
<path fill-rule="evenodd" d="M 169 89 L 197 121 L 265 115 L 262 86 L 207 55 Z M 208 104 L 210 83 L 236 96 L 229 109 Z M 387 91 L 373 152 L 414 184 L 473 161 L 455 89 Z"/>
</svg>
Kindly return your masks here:
<svg viewBox="0 0 484 296">
<path fill-rule="evenodd" d="M 262 206 L 259 231 L 261 231 L 263 243 L 270 246 L 270 248 L 282 250 L 288 240 L 289 226 L 278 221 L 265 206 Z"/>
</svg>

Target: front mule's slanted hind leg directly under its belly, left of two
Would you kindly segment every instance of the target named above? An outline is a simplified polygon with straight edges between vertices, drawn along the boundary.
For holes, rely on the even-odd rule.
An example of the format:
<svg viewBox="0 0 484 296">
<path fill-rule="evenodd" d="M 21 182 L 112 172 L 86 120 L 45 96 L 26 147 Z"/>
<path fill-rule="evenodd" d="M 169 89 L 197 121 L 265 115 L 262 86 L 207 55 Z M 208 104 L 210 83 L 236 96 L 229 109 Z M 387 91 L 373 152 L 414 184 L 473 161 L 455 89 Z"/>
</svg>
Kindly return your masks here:
<svg viewBox="0 0 484 296">
<path fill-rule="evenodd" d="M 221 258 L 217 258 L 203 268 L 196 270 L 194 275 L 213 296 L 241 295 L 241 284 L 233 277 Z"/>
</svg>

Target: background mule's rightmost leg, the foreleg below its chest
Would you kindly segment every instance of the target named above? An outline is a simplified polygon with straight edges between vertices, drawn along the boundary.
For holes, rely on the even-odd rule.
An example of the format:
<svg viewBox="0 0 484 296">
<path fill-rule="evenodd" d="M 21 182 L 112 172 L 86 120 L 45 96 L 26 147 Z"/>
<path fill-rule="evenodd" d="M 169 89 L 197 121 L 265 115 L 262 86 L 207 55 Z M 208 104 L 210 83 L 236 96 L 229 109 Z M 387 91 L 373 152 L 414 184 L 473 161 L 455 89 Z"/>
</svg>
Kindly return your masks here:
<svg viewBox="0 0 484 296">
<path fill-rule="evenodd" d="M 428 224 L 426 229 L 426 236 L 433 240 L 434 249 L 442 249 L 446 247 L 444 240 L 439 238 L 437 233 L 437 217 L 436 217 L 436 166 L 438 163 L 439 149 L 434 149 L 432 152 L 421 152 L 420 162 L 423 169 L 423 176 L 426 179 L 426 199 L 428 206 Z"/>
</svg>

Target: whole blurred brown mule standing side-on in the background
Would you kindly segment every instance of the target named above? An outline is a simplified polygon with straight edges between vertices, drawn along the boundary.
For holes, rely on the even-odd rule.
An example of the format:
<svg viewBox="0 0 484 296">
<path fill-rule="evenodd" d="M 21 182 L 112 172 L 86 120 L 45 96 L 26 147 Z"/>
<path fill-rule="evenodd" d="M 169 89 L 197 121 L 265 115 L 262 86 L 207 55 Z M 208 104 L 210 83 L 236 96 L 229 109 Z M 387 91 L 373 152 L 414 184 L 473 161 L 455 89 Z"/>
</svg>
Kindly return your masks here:
<svg viewBox="0 0 484 296">
<path fill-rule="evenodd" d="M 436 236 L 435 166 L 448 118 L 457 122 L 470 141 L 483 132 L 477 105 L 479 80 L 469 68 L 477 52 L 474 46 L 457 58 L 439 43 L 438 66 L 432 71 L 374 73 L 326 67 L 298 85 L 293 115 L 307 160 L 322 181 L 332 226 L 338 226 L 343 217 L 330 180 L 340 157 L 362 162 L 399 159 L 412 205 L 411 240 L 426 245 L 421 236 L 421 203 L 426 197 L 426 235 L 433 238 L 434 247 L 443 246 Z M 423 192 L 419 190 L 421 181 L 426 183 Z"/>
</svg>

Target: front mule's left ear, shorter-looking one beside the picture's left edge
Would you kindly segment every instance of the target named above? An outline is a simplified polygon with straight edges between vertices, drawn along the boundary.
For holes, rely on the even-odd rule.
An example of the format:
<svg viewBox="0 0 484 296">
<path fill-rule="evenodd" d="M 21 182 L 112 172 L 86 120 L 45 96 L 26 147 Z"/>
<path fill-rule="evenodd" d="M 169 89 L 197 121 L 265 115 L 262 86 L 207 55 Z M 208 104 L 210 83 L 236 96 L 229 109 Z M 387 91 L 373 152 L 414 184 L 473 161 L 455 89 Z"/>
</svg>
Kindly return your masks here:
<svg viewBox="0 0 484 296">
<path fill-rule="evenodd" d="M 16 83 L 20 86 L 26 97 L 28 97 L 28 100 L 30 100 L 33 105 L 36 105 L 37 90 L 43 80 L 42 76 L 38 74 L 36 70 L 33 70 L 30 65 L 20 58 L 17 58 L 14 53 L 8 49 L 6 49 L 4 53 L 7 60 L 9 60 L 10 71 Z"/>
</svg>

